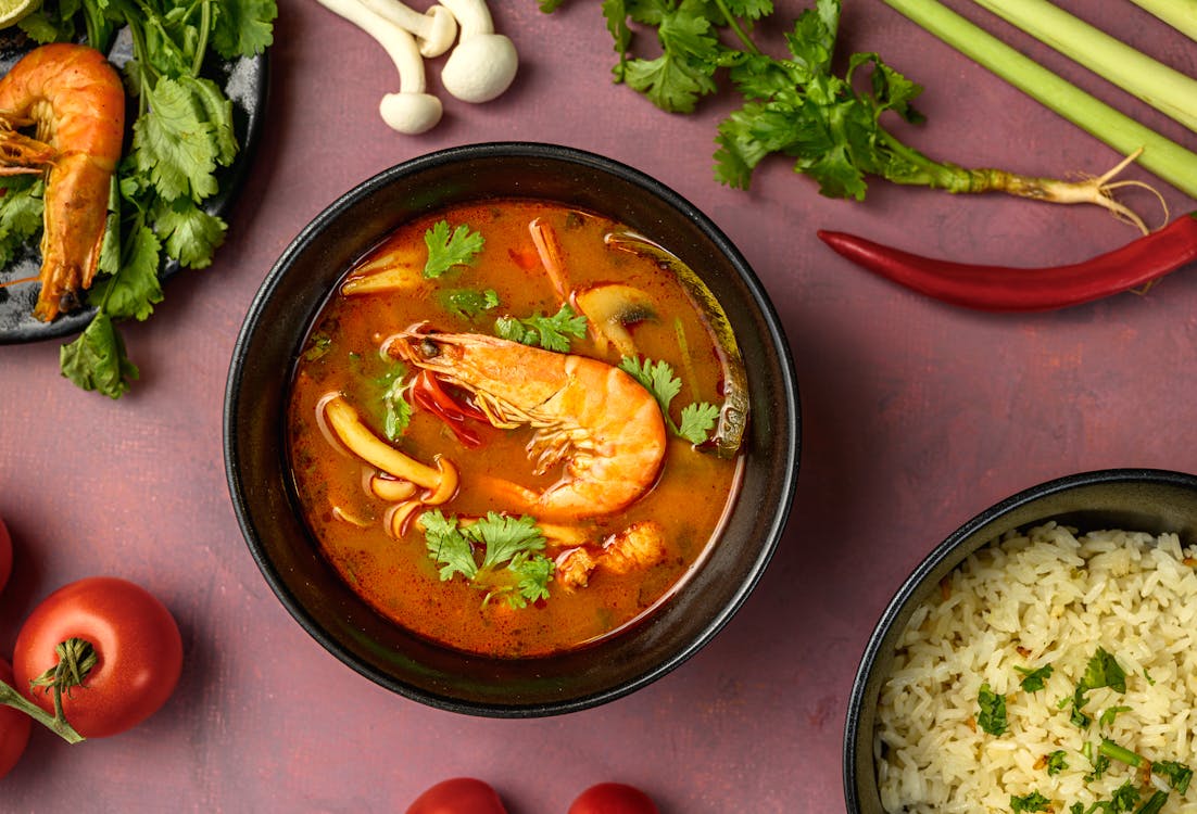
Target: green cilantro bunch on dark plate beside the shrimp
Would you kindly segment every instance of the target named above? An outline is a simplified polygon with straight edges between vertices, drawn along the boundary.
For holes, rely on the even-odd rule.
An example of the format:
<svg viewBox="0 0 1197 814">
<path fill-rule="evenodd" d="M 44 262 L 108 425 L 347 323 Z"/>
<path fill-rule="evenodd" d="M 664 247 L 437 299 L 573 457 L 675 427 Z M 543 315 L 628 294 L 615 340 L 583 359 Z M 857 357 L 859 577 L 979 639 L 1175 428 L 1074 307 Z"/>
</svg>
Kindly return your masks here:
<svg viewBox="0 0 1197 814">
<path fill-rule="evenodd" d="M 205 69 L 215 59 L 262 53 L 277 14 L 274 0 L 45 0 L 20 22 L 40 43 L 83 37 L 107 54 L 121 29 L 133 43 L 123 67 L 135 100 L 126 115 L 132 140 L 117 167 L 99 270 L 87 293 L 96 314 L 60 354 L 63 375 L 84 390 L 111 398 L 128 391 L 138 368 L 116 324 L 153 313 L 163 299 L 158 273 L 165 261 L 201 269 L 224 241 L 226 224 L 205 202 L 220 191 L 219 170 L 241 146 L 232 104 Z M 41 219 L 40 190 L 30 192 L 0 200 L 0 226 Z M 0 257 L 29 235 L 0 227 Z"/>
</svg>

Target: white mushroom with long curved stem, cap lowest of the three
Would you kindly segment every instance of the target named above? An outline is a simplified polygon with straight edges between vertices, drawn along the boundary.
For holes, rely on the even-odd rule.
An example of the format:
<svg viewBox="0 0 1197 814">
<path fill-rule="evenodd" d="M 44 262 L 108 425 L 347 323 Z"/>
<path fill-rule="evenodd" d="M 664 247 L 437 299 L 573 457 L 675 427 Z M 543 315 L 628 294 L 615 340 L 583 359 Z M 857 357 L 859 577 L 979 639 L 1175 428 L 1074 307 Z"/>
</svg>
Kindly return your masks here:
<svg viewBox="0 0 1197 814">
<path fill-rule="evenodd" d="M 424 60 L 415 37 L 407 29 L 370 11 L 359 0 L 320 0 L 320 4 L 373 37 L 395 63 L 399 93 L 388 93 L 378 103 L 383 121 L 407 135 L 436 127 L 443 108 L 440 99 L 425 93 Z"/>
</svg>

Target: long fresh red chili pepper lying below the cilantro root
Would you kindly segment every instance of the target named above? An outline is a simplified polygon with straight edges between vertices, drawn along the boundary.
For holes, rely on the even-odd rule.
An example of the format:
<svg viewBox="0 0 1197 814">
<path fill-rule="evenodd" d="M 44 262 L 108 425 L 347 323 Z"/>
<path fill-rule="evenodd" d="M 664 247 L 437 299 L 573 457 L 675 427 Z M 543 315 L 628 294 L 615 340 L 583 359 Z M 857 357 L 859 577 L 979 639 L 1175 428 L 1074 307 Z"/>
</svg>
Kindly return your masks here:
<svg viewBox="0 0 1197 814">
<path fill-rule="evenodd" d="M 920 257 L 843 232 L 819 239 L 887 280 L 967 308 L 1050 311 L 1138 288 L 1197 259 L 1197 213 L 1122 249 L 1047 268 L 977 265 Z"/>
</svg>

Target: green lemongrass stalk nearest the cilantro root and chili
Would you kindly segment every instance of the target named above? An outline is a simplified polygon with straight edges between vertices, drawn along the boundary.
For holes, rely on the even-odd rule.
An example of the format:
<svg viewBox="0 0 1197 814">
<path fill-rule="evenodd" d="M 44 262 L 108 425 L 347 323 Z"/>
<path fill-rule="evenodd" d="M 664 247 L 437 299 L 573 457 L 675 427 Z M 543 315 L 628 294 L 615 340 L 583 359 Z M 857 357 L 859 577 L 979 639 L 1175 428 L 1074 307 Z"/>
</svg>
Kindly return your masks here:
<svg viewBox="0 0 1197 814">
<path fill-rule="evenodd" d="M 936 0 L 885 0 L 918 26 L 1123 155 L 1197 197 L 1197 154 L 1118 112 Z"/>
</svg>

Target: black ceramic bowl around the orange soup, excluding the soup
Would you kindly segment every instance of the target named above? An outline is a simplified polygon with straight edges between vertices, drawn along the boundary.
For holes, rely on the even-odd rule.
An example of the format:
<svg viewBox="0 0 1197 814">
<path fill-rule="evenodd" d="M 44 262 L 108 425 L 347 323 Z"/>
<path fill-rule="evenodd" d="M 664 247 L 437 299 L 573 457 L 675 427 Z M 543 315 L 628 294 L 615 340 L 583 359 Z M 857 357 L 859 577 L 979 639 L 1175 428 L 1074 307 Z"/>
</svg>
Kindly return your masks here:
<svg viewBox="0 0 1197 814">
<path fill-rule="evenodd" d="M 740 497 L 686 586 L 631 630 L 543 659 L 492 660 L 431 644 L 388 622 L 324 561 L 296 509 L 284 414 L 293 360 L 334 286 L 405 221 L 486 197 L 530 197 L 597 212 L 667 246 L 718 298 L 748 367 L 751 415 Z M 728 622 L 765 569 L 798 466 L 798 396 L 782 326 L 727 237 L 661 183 L 565 147 L 487 143 L 418 158 L 358 185 L 286 249 L 237 341 L 224 424 L 233 507 L 254 559 L 296 620 L 345 663 L 437 708 L 530 717 L 601 704 L 666 674 Z"/>
</svg>

